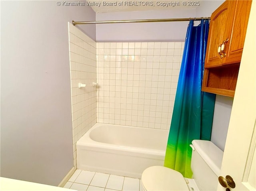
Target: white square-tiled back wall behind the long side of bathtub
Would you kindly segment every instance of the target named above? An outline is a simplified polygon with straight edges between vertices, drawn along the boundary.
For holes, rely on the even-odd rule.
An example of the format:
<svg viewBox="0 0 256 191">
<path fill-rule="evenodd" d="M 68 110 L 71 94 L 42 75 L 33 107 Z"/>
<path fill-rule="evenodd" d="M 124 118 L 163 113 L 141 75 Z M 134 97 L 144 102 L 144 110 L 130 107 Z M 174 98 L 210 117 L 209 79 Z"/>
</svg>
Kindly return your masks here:
<svg viewBox="0 0 256 191">
<path fill-rule="evenodd" d="M 97 43 L 97 122 L 169 129 L 184 42 Z"/>
</svg>

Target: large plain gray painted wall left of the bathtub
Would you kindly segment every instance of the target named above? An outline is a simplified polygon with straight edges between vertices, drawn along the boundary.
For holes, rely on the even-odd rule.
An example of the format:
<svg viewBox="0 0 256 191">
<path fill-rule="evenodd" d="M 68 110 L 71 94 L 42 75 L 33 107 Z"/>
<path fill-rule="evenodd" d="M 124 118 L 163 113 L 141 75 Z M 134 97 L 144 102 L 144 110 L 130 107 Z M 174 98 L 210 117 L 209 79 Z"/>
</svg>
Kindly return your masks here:
<svg viewBox="0 0 256 191">
<path fill-rule="evenodd" d="M 1 1 L 2 177 L 58 185 L 73 167 L 68 21 L 85 19 L 87 6 Z"/>
</svg>

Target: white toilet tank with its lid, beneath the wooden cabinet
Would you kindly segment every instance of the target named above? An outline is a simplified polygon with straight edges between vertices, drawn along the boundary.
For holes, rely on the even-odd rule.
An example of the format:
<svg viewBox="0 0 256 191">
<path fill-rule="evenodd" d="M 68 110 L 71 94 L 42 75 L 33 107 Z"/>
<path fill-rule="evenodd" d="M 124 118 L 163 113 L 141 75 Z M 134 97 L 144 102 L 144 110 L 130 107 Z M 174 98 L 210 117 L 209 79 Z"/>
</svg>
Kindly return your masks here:
<svg viewBox="0 0 256 191">
<path fill-rule="evenodd" d="M 191 169 L 199 190 L 217 190 L 223 151 L 206 140 L 193 140 Z"/>
</svg>

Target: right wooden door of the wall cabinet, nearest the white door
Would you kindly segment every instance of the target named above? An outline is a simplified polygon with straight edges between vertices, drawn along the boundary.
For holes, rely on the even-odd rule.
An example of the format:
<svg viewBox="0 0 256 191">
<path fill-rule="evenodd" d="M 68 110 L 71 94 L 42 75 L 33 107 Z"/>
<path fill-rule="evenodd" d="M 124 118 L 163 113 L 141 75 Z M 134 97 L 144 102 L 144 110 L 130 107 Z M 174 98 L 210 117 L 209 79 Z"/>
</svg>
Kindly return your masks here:
<svg viewBox="0 0 256 191">
<path fill-rule="evenodd" d="M 234 1 L 236 2 L 235 11 L 230 12 L 230 18 L 234 18 L 232 29 L 228 31 L 226 29 L 226 37 L 228 42 L 225 44 L 224 52 L 226 57 L 223 58 L 223 64 L 240 63 L 242 57 L 242 51 L 244 47 L 244 39 L 250 14 L 250 8 L 252 1 Z M 233 3 L 234 4 L 234 3 Z"/>
</svg>

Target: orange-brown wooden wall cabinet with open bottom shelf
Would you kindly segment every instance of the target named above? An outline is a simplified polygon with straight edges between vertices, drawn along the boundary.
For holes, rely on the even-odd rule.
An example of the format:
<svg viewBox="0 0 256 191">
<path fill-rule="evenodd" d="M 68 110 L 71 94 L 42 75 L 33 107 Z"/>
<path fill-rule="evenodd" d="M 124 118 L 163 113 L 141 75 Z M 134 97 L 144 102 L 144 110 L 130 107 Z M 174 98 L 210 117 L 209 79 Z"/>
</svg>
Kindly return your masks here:
<svg viewBox="0 0 256 191">
<path fill-rule="evenodd" d="M 211 16 L 202 91 L 234 97 L 251 0 L 227 0 Z"/>
</svg>

